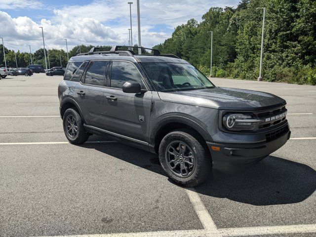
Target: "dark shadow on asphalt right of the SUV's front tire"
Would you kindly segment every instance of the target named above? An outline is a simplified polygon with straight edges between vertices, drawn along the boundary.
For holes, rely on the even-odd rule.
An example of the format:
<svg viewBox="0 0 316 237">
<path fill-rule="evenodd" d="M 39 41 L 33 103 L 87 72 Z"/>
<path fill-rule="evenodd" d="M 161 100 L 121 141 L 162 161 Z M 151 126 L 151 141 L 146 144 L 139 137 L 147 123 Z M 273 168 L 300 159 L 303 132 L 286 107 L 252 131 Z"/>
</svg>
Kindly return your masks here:
<svg viewBox="0 0 316 237">
<path fill-rule="evenodd" d="M 316 171 L 305 164 L 269 156 L 235 174 L 214 172 L 214 178 L 196 190 L 252 205 L 297 203 L 315 192 Z"/>
</svg>

